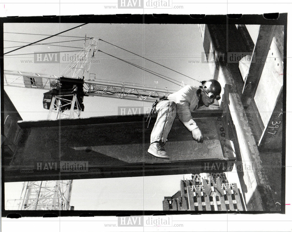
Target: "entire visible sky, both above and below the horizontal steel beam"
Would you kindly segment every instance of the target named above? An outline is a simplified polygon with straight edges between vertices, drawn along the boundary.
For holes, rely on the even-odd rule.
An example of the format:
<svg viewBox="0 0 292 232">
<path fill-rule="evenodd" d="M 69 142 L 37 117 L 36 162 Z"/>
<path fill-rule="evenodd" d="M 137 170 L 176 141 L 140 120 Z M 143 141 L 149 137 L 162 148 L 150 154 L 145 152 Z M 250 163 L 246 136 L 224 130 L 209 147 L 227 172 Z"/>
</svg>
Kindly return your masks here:
<svg viewBox="0 0 292 232">
<path fill-rule="evenodd" d="M 76 25 L 78 24 L 4 24 L 4 32 L 51 35 Z M 88 24 L 62 35 L 99 37 L 199 81 L 211 79 L 208 64 L 189 62 L 189 60 L 201 60 L 201 54 L 204 51 L 197 25 Z M 34 42 L 45 37 L 47 36 L 4 33 L 4 48 L 6 48 L 4 53 L 15 49 L 7 47 L 23 46 L 25 43 L 20 42 Z M 75 39 L 81 38 L 53 37 L 40 43 Z M 83 42 L 69 41 L 61 43 L 61 45 L 82 47 Z M 198 84 L 190 78 L 159 65 L 154 65 L 142 58 L 134 57 L 133 54 L 105 42 L 100 41 L 98 49 L 117 57 L 123 57 L 140 66 L 144 65 L 148 69 L 176 79 L 179 82 L 184 81 L 185 84 L 190 85 Z M 59 76 L 67 65 L 66 63 L 22 63 L 22 60 L 34 60 L 34 55 L 16 56 L 15 54 L 71 50 L 76 49 L 51 45 L 27 46 L 7 54 L 14 54 L 13 56 L 5 56 L 4 70 Z M 61 56 L 64 54 L 66 53 L 61 53 Z M 142 70 L 116 58 L 97 53 L 97 59 L 99 63 L 94 63 L 90 69 L 90 72 L 94 73 L 96 78 L 108 81 L 133 82 L 151 86 L 152 88 L 164 89 L 168 87 L 168 89 L 173 90 L 179 89 L 178 85 L 147 72 L 143 73 Z M 4 86 L 4 89 L 23 120 L 46 120 L 48 111 L 42 105 L 43 93 L 46 91 L 11 86 Z M 137 106 L 137 104 L 141 103 L 115 98 L 85 97 L 85 111 L 81 113 L 81 117 L 115 115 L 117 114 L 118 106 Z M 144 106 L 150 105 L 151 103 L 144 103 Z M 71 205 L 75 206 L 75 210 L 162 210 L 164 196 L 171 196 L 176 193 L 180 188 L 181 179 L 183 179 L 183 175 L 74 180 Z M 21 189 L 22 183 L 5 184 L 5 193 L 10 199 L 19 198 Z M 19 195 L 17 196 L 18 193 Z"/>
</svg>

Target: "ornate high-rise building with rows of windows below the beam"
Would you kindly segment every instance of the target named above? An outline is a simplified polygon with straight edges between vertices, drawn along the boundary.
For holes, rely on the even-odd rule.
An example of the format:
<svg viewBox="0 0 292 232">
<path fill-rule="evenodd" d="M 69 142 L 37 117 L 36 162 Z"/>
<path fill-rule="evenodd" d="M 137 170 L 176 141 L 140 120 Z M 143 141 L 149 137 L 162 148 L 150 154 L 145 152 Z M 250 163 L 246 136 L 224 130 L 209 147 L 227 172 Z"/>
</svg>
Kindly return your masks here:
<svg viewBox="0 0 292 232">
<path fill-rule="evenodd" d="M 180 190 L 164 197 L 163 210 L 243 211 L 239 188 L 224 173 L 187 174 Z"/>
</svg>

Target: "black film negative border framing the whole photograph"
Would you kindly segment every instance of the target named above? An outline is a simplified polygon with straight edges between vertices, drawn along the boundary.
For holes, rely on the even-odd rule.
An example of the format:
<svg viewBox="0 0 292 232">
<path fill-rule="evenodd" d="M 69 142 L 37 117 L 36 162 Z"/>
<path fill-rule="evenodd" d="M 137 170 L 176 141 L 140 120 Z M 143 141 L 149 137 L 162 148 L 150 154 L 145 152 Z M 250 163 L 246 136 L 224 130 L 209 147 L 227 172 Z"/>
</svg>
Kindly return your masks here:
<svg viewBox="0 0 292 232">
<path fill-rule="evenodd" d="M 275 17 L 276 15 L 276 17 Z M 4 23 L 145 23 L 145 24 L 253 24 L 253 25 L 284 25 L 284 84 L 283 84 L 283 111 L 286 112 L 286 68 L 287 68 L 287 13 L 273 13 L 263 15 L 168 15 L 168 14 L 116 14 L 116 15 L 75 15 L 75 16 L 36 16 L 36 17 L 18 17 L 11 16 L 0 18 L 0 43 L 1 43 L 1 134 L 4 132 L 4 59 L 3 59 L 3 39 Z M 264 17 L 265 16 L 265 17 Z M 278 16 L 278 17 L 277 17 Z M 1 170 L 1 217 L 90 217 L 90 216 L 134 216 L 134 215 L 176 215 L 176 214 L 263 214 L 263 213 L 281 213 L 285 214 L 285 165 L 286 165 L 286 114 L 283 114 L 283 132 L 282 138 L 282 178 L 281 178 L 281 211 L 144 211 L 144 210 L 52 210 L 52 211 L 25 211 L 25 210 L 5 210 L 4 201 L 4 171 Z M 4 157 L 1 156 L 4 163 Z M 162 204 L 162 201 L 161 201 Z"/>
</svg>

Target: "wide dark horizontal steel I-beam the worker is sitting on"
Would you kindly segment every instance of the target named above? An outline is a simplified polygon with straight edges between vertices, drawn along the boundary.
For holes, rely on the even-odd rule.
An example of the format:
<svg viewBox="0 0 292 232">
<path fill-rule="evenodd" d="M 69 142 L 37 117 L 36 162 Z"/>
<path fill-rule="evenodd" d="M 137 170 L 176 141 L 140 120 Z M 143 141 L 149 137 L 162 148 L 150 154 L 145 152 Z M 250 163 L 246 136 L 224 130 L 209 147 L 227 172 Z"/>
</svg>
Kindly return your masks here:
<svg viewBox="0 0 292 232">
<path fill-rule="evenodd" d="M 4 167 L 4 181 L 54 180 L 59 175 L 61 179 L 88 179 L 227 171 L 235 154 L 232 141 L 223 133 L 227 122 L 221 115 L 220 110 L 193 112 L 204 143 L 195 142 L 176 119 L 165 146 L 170 160 L 147 153 L 155 122 L 147 129 L 147 115 L 18 122 L 23 136 L 11 165 Z M 88 162 L 88 170 L 64 171 L 66 161 Z"/>
</svg>

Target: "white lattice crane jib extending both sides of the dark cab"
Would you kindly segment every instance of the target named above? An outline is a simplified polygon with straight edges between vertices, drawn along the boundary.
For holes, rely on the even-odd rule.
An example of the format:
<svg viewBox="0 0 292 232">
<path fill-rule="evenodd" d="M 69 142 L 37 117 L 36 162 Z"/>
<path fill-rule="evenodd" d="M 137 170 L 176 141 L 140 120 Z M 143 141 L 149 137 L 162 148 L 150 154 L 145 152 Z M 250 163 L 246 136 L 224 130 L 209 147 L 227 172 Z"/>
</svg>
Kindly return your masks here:
<svg viewBox="0 0 292 232">
<path fill-rule="evenodd" d="M 4 86 L 17 86 L 32 89 L 51 90 L 57 86 L 58 77 L 29 72 L 4 70 Z M 84 80 L 85 94 L 88 96 L 102 96 L 135 101 L 153 102 L 154 98 L 174 93 L 174 90 L 157 89 L 146 85 L 138 85 L 129 82 L 115 82 L 96 79 L 90 74 Z"/>
</svg>

